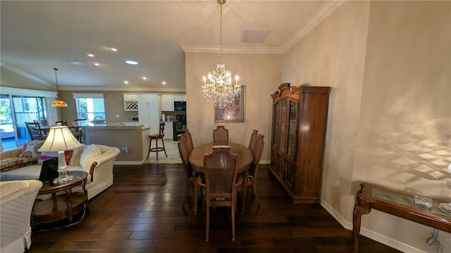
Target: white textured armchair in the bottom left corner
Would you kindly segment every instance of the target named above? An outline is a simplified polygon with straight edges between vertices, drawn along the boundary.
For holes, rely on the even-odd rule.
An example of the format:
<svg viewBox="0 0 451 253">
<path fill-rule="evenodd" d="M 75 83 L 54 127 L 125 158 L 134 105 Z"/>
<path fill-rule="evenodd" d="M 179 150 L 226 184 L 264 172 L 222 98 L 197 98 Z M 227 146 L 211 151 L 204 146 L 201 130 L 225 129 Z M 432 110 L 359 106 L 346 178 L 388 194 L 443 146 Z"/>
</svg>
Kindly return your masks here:
<svg viewBox="0 0 451 253">
<path fill-rule="evenodd" d="M 31 212 L 42 182 L 0 182 L 0 252 L 25 252 L 31 246 Z"/>
</svg>

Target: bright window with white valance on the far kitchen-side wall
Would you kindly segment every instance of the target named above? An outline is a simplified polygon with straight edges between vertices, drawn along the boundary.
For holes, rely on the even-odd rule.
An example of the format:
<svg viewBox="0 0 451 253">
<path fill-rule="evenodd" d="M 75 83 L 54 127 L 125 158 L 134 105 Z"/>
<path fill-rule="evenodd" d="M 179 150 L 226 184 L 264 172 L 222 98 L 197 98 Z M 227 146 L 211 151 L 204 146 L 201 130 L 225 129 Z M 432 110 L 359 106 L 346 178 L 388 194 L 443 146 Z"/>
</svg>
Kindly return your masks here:
<svg viewBox="0 0 451 253">
<path fill-rule="evenodd" d="M 104 94 L 102 93 L 73 93 L 77 103 L 77 117 L 92 120 L 95 117 L 105 119 Z"/>
</svg>

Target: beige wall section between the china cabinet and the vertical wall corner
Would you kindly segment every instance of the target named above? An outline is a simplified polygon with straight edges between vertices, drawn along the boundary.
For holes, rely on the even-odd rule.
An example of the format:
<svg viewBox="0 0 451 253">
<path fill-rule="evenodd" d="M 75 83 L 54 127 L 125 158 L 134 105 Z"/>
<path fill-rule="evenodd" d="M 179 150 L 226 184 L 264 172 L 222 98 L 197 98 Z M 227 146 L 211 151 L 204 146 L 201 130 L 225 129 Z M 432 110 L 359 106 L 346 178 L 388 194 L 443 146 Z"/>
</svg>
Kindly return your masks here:
<svg viewBox="0 0 451 253">
<path fill-rule="evenodd" d="M 321 199 L 340 214 L 351 201 L 368 15 L 369 2 L 343 4 L 283 58 L 284 81 L 332 87 Z"/>
</svg>

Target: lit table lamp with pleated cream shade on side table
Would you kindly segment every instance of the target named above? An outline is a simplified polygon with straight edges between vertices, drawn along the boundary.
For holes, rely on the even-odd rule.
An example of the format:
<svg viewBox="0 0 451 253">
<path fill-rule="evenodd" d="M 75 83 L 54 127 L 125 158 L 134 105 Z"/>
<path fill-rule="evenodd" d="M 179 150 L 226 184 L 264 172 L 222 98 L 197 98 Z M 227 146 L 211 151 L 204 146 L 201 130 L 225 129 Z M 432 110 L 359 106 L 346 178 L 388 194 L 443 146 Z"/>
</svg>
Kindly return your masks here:
<svg viewBox="0 0 451 253">
<path fill-rule="evenodd" d="M 70 133 L 68 126 L 61 126 L 61 123 L 58 123 L 56 126 L 51 126 L 49 135 L 38 151 L 58 152 L 58 178 L 54 180 L 54 183 L 64 183 L 72 180 L 72 176 L 68 175 L 68 170 L 66 169 L 67 164 L 64 150 L 70 150 L 80 146 L 81 143 Z"/>
</svg>

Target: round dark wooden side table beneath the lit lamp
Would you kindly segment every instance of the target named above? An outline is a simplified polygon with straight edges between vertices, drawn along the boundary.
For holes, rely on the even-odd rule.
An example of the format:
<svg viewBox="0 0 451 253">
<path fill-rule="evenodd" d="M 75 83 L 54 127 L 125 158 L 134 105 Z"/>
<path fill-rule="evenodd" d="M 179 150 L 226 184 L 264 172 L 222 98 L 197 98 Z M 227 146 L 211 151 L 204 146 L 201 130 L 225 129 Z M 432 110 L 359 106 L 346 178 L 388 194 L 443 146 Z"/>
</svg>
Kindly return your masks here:
<svg viewBox="0 0 451 253">
<path fill-rule="evenodd" d="M 51 194 L 45 200 L 35 200 L 32 210 L 32 226 L 68 219 L 73 222 L 73 215 L 87 209 L 87 173 L 85 171 L 69 171 L 73 180 L 50 186 L 44 183 L 37 195 Z M 75 186 L 82 186 L 82 192 L 73 192 Z M 56 194 L 63 192 L 62 194 Z"/>
</svg>

